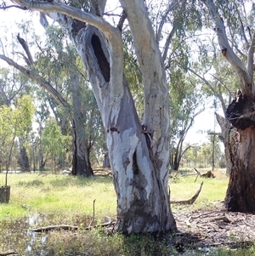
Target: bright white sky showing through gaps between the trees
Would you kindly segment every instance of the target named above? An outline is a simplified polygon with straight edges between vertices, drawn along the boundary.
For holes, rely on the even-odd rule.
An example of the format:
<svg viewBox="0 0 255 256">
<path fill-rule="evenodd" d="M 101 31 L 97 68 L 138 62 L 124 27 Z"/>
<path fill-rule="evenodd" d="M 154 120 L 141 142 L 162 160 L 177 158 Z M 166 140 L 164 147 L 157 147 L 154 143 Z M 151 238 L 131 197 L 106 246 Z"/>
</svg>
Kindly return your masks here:
<svg viewBox="0 0 255 256">
<path fill-rule="evenodd" d="M 111 0 L 111 6 L 108 9 L 116 9 L 117 0 Z M 37 31 L 44 31 L 39 22 L 38 13 L 31 13 L 29 11 L 24 11 L 21 9 L 8 9 L 8 10 L 0 10 L 0 38 L 4 45 L 3 38 L 3 24 L 8 24 L 8 35 L 11 37 L 11 34 L 14 33 L 16 35 L 19 31 L 15 22 L 20 22 L 23 19 L 26 19 L 27 15 L 33 18 L 33 26 L 37 27 Z M 0 47 L 0 54 L 2 54 L 2 48 Z M 0 60 L 0 66 L 5 65 L 3 60 Z M 209 102 L 207 104 L 211 106 L 212 104 Z M 203 111 L 199 116 L 195 117 L 195 122 L 192 128 L 190 128 L 190 132 L 187 134 L 185 142 L 190 144 L 201 145 L 203 142 L 207 142 L 207 133 L 206 131 L 215 128 L 216 132 L 220 131 L 218 123 L 215 121 L 214 110 L 207 108 L 206 111 Z M 201 132 L 202 131 L 202 132 Z"/>
</svg>

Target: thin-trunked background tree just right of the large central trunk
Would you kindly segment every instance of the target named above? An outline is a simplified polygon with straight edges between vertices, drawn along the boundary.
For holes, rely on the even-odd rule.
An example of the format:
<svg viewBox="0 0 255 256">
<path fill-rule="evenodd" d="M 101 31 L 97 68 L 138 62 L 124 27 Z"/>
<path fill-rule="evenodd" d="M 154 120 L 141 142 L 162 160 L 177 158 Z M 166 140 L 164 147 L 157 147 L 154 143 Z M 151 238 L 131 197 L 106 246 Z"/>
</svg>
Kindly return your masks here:
<svg viewBox="0 0 255 256">
<path fill-rule="evenodd" d="M 201 82 L 184 70 L 171 72 L 171 128 L 170 167 L 178 170 L 182 157 L 192 145 L 184 145 L 184 139 L 192 127 L 195 117 L 204 111 Z"/>
</svg>

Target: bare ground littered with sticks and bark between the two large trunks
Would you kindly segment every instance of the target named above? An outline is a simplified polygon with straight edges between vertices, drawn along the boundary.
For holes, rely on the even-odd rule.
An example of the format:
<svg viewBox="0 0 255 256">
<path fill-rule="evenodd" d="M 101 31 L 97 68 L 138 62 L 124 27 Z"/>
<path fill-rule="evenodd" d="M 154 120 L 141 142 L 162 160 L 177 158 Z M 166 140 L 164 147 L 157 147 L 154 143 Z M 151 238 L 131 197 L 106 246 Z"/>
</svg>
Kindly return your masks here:
<svg viewBox="0 0 255 256">
<path fill-rule="evenodd" d="M 173 210 L 178 227 L 176 242 L 184 249 L 249 247 L 255 241 L 255 215 L 227 212 L 224 202 L 213 204 L 201 210 Z"/>
</svg>

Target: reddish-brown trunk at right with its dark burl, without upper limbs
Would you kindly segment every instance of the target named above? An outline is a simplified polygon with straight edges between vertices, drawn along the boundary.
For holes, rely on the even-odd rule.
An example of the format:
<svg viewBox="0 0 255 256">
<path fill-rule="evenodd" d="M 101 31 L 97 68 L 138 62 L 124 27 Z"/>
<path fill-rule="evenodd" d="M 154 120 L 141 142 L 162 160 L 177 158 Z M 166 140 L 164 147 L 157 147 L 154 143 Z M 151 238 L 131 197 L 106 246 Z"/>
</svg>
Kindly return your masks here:
<svg viewBox="0 0 255 256">
<path fill-rule="evenodd" d="M 255 213 L 255 122 L 250 119 L 254 100 L 239 95 L 229 105 L 227 116 L 235 125 L 229 187 L 225 205 L 230 211 Z"/>
</svg>

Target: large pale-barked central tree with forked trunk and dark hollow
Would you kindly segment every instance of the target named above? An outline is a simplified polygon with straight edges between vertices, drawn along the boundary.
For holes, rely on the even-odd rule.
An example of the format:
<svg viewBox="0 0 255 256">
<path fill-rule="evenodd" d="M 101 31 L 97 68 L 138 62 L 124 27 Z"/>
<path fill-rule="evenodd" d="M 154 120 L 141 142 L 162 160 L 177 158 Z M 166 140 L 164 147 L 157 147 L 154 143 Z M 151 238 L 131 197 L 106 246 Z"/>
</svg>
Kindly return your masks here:
<svg viewBox="0 0 255 256">
<path fill-rule="evenodd" d="M 148 134 L 139 122 L 123 76 L 121 31 L 97 15 L 86 14 L 63 3 L 14 2 L 27 9 L 59 13 L 56 16 L 60 26 L 69 31 L 86 65 L 105 127 L 117 195 L 116 228 L 128 233 L 175 229 L 168 195 L 167 81 L 144 2 L 121 1 L 143 74 L 144 125 Z M 81 26 L 75 35 L 71 33 L 74 20 L 70 17 L 90 26 Z"/>
</svg>

